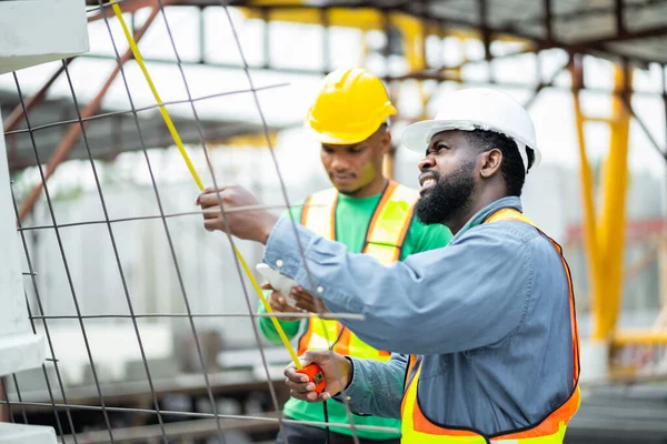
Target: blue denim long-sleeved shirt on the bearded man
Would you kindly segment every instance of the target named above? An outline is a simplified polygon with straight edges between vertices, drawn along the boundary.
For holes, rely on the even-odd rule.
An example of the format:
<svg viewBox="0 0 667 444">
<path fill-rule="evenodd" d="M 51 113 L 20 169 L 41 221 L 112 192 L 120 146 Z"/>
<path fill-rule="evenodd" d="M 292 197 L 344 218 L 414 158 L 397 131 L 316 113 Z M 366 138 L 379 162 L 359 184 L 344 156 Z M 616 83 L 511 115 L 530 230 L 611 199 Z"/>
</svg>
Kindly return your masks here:
<svg viewBox="0 0 667 444">
<path fill-rule="evenodd" d="M 407 354 L 425 355 L 418 398 L 432 422 L 487 435 L 539 422 L 573 391 L 569 294 L 560 256 L 535 228 L 470 219 L 447 248 L 382 265 L 281 219 L 265 262 L 317 294 L 361 340 L 394 354 L 352 359 L 356 412 L 400 417 Z M 296 244 L 298 238 L 306 263 Z M 310 278 L 309 278 L 310 274 Z"/>
</svg>

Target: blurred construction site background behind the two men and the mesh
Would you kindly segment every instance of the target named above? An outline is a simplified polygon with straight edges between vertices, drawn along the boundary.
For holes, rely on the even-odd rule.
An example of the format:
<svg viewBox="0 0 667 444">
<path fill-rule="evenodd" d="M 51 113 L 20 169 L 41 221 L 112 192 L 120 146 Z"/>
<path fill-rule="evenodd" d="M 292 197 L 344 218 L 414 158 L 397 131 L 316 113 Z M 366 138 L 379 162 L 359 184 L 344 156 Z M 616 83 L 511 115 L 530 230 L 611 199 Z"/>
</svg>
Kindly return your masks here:
<svg viewBox="0 0 667 444">
<path fill-rule="evenodd" d="M 161 436 L 155 414 L 123 411 L 152 408 L 153 395 L 167 411 L 211 413 L 213 398 L 218 413 L 277 417 L 267 374 L 281 405 L 289 356 L 261 341 L 265 367 L 248 316 L 257 297 L 226 238 L 202 229 L 198 189 L 108 3 L 86 3 L 89 52 L 0 75 L 26 301 L 50 359 L 3 379 L 4 414 L 88 443 L 109 441 L 100 411 L 52 404 L 99 406 L 102 392 L 118 407 L 119 442 Z M 529 109 L 544 153 L 525 210 L 564 245 L 577 294 L 585 397 L 566 442 L 667 442 L 667 1 L 232 3 L 119 3 L 205 185 L 201 134 L 218 183 L 245 185 L 277 212 L 282 186 L 292 204 L 327 186 L 302 120 L 336 68 L 364 65 L 386 81 L 399 110 L 386 169 L 409 185 L 418 157 L 399 143 L 406 124 L 432 117 L 448 90 L 508 92 Z M 261 260 L 260 245 L 238 245 L 249 263 Z M 152 389 L 127 297 L 146 315 L 137 322 Z M 170 316 L 188 311 L 200 316 Z M 177 442 L 220 433 L 211 418 L 167 417 Z M 277 430 L 243 417 L 222 424 L 240 443 L 270 442 Z"/>
</svg>

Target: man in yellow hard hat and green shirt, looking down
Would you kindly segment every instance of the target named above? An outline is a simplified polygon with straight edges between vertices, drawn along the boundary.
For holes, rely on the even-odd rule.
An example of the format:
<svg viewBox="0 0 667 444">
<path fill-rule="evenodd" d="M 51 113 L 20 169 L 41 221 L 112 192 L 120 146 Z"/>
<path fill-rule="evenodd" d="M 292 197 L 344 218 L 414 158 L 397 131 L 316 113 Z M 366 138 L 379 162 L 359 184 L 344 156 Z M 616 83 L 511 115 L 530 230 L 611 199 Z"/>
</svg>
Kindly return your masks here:
<svg viewBox="0 0 667 444">
<path fill-rule="evenodd" d="M 372 255 L 389 264 L 414 253 L 447 245 L 451 238 L 442 225 L 422 224 L 412 213 L 419 199 L 416 190 L 404 186 L 382 174 L 385 154 L 391 148 L 388 118 L 396 113 L 385 85 L 376 75 L 361 68 L 331 72 L 310 108 L 306 125 L 321 143 L 320 157 L 334 188 L 311 194 L 291 218 L 316 233 L 344 243 L 350 252 Z M 315 301 L 301 289 L 293 289 L 297 306 L 311 311 Z M 272 293 L 269 303 L 276 312 L 293 312 L 285 299 Z M 323 306 L 323 305 L 321 305 Z M 260 304 L 260 312 L 263 307 Z M 299 331 L 299 354 L 308 350 L 335 352 L 360 359 L 388 361 L 390 353 L 366 344 L 349 329 L 335 320 L 280 320 L 289 339 Z M 271 320 L 260 317 L 263 335 L 273 343 L 280 337 Z M 346 407 L 327 402 L 331 424 L 372 425 L 394 428 L 380 432 L 356 428 L 360 443 L 398 443 L 400 422 L 378 416 L 348 415 Z M 290 398 L 285 405 L 288 418 L 325 422 L 321 405 Z M 352 443 L 350 427 L 323 427 L 283 423 L 278 443 Z"/>
</svg>

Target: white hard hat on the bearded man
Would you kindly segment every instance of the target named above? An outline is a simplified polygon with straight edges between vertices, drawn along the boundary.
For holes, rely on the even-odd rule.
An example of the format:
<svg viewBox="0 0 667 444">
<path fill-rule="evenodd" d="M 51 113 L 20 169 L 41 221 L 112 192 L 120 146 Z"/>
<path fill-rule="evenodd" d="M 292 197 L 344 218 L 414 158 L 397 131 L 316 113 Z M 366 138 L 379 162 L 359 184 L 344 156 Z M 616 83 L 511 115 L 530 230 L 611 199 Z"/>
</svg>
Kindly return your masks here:
<svg viewBox="0 0 667 444">
<path fill-rule="evenodd" d="M 495 131 L 516 142 L 526 172 L 526 147 L 535 152 L 532 167 L 539 163 L 541 154 L 535 141 L 532 120 L 524 107 L 506 93 L 487 88 L 462 89 L 446 97 L 444 103 L 434 120 L 412 123 L 405 129 L 401 139 L 406 147 L 424 153 L 431 138 L 442 131 Z"/>
</svg>

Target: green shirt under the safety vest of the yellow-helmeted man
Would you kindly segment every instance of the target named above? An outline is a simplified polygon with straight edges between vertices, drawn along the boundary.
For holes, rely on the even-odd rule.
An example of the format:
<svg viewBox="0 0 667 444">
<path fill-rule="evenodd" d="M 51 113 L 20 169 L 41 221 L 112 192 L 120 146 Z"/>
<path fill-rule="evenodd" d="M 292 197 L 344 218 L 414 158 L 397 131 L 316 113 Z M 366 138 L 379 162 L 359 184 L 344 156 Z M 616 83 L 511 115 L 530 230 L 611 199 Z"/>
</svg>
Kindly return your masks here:
<svg viewBox="0 0 667 444">
<path fill-rule="evenodd" d="M 347 245 L 350 253 L 361 253 L 370 219 L 380 201 L 381 194 L 369 198 L 349 198 L 339 194 L 338 204 L 336 206 L 336 228 L 337 241 Z M 293 220 L 301 220 L 302 206 L 297 206 L 291 211 Z M 451 233 L 444 225 L 425 225 L 417 216 L 412 216 L 412 222 L 400 253 L 400 260 L 405 260 L 410 254 L 435 250 L 442 248 L 449 243 Z M 265 313 L 262 304 L 259 304 L 259 312 Z M 298 322 L 279 321 L 285 330 L 285 334 L 290 340 L 296 337 L 300 330 L 306 330 L 308 326 L 307 320 Z M 275 344 L 280 344 L 280 337 L 273 327 L 269 317 L 259 319 L 259 327 L 262 334 Z M 348 413 L 345 405 L 329 400 L 327 401 L 327 410 L 329 413 L 329 422 L 349 424 Z M 323 422 L 323 408 L 321 403 L 308 403 L 293 397 L 285 404 L 283 413 L 286 416 L 299 421 L 318 421 Z M 392 427 L 400 430 L 400 421 L 379 416 L 359 416 L 354 415 L 355 425 L 374 425 Z M 331 427 L 331 431 L 350 435 L 349 428 Z M 356 430 L 357 435 L 362 438 L 371 440 L 388 440 L 399 436 L 400 433 L 387 433 L 368 430 Z"/>
</svg>

